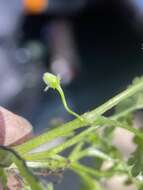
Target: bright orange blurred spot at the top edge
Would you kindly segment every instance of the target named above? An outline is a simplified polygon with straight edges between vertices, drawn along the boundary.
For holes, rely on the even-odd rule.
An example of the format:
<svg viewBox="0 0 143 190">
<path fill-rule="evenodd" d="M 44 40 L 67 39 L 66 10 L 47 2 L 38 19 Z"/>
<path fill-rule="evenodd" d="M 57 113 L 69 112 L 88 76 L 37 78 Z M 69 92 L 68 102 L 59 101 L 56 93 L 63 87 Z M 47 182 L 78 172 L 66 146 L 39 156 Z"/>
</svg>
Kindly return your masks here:
<svg viewBox="0 0 143 190">
<path fill-rule="evenodd" d="M 39 14 L 48 6 L 48 0 L 23 0 L 26 13 Z"/>
</svg>

